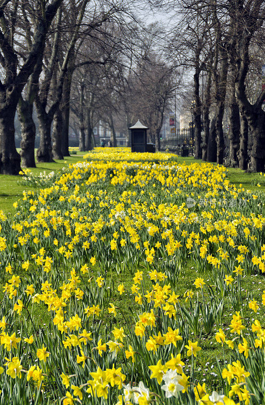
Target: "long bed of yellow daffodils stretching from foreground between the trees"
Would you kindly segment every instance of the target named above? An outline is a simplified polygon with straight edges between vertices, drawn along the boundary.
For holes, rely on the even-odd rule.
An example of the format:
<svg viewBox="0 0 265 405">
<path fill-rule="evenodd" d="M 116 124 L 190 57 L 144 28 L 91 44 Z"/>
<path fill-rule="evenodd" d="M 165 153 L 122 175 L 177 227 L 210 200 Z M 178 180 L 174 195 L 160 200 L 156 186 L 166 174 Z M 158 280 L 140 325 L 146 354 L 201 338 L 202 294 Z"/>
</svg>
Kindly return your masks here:
<svg viewBox="0 0 265 405">
<path fill-rule="evenodd" d="M 265 403 L 265 291 L 241 287 L 265 272 L 261 194 L 222 166 L 121 148 L 31 177 L 42 188 L 0 213 L 0 404 Z"/>
</svg>

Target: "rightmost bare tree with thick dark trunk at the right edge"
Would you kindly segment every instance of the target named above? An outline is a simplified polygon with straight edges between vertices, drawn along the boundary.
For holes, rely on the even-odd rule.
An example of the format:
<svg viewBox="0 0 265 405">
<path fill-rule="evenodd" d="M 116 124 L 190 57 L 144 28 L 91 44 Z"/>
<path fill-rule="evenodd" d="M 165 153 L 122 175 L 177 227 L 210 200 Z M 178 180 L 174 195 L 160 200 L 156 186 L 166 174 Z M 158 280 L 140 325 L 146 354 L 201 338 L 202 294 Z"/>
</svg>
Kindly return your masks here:
<svg viewBox="0 0 265 405">
<path fill-rule="evenodd" d="M 251 132 L 252 148 L 250 155 L 251 169 L 254 172 L 264 171 L 265 165 L 265 112 L 262 102 L 265 98 L 265 89 L 259 93 L 256 101 L 250 103 L 246 94 L 246 77 L 249 71 L 249 49 L 255 34 L 262 28 L 265 19 L 264 2 L 261 0 L 231 2 L 231 20 L 236 27 L 237 37 L 235 48 L 235 95 L 242 117 L 242 132 L 240 154 L 244 159 L 246 145 L 246 125 Z M 232 51 L 231 51 L 232 54 Z M 242 139 L 243 138 L 243 139 Z"/>
</svg>

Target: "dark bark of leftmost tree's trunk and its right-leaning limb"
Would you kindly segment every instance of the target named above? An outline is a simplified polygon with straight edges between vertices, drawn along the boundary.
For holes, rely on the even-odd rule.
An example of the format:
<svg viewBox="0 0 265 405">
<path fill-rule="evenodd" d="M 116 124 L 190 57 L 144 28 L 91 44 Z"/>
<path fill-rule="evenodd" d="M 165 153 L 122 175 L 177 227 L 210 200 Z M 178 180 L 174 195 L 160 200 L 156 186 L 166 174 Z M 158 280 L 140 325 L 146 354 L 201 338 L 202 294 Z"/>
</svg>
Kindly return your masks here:
<svg viewBox="0 0 265 405">
<path fill-rule="evenodd" d="M 1 17 L 4 27 L 4 12 L 7 4 L 8 2 L 2 6 Z M 20 171 L 20 155 L 15 147 L 16 108 L 37 60 L 43 54 L 47 31 L 60 4 L 61 0 L 54 0 L 39 14 L 31 46 L 20 68 L 18 68 L 18 56 L 14 51 L 12 41 L 10 43 L 5 33 L 0 30 L 0 46 L 3 52 L 1 63 L 5 69 L 4 84 L 0 79 L 0 173 L 17 175 Z"/>
</svg>

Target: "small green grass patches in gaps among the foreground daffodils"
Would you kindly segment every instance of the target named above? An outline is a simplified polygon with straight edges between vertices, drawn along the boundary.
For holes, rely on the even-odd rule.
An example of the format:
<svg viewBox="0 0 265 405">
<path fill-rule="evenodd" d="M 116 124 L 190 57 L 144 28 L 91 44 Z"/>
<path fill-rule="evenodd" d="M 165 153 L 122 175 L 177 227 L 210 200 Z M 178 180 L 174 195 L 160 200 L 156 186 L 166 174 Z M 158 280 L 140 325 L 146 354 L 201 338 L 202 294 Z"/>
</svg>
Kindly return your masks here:
<svg viewBox="0 0 265 405">
<path fill-rule="evenodd" d="M 147 269 L 145 266 L 140 264 L 139 270 L 143 271 L 143 281 L 145 288 L 150 290 L 151 282 L 147 274 Z M 136 269 L 135 269 L 136 270 Z M 23 272 L 19 273 L 22 279 L 24 279 Z M 70 274 L 69 274 L 70 275 Z M 97 278 L 98 275 L 103 275 L 98 265 L 93 267 L 90 271 L 90 275 L 83 276 L 83 281 L 78 285 L 81 290 L 87 288 L 87 279 L 90 277 Z M 128 334 L 128 327 L 131 325 L 134 328 L 134 321 L 131 319 L 131 313 L 135 312 L 134 307 L 138 307 L 138 305 L 132 300 L 130 287 L 132 285 L 132 277 L 134 275 L 131 274 L 129 271 L 125 270 L 124 272 L 117 273 L 116 271 L 111 271 L 110 273 L 106 274 L 106 284 L 109 285 L 110 283 L 113 284 L 113 293 L 109 297 L 109 302 L 113 303 L 114 306 L 117 308 L 117 316 L 113 317 L 111 314 L 108 314 L 107 307 L 109 305 L 105 305 L 105 316 L 103 318 L 103 322 L 101 325 L 101 334 L 104 336 L 106 325 L 112 321 L 113 328 L 118 326 L 119 328 L 123 326 L 125 334 Z M 197 277 L 204 278 L 206 284 L 211 284 L 211 274 L 208 270 L 203 272 L 199 272 L 195 269 L 192 261 L 189 261 L 185 264 L 185 267 L 181 270 L 179 275 L 178 282 L 176 286 L 174 286 L 175 291 L 182 297 L 183 294 L 187 289 L 192 289 L 193 282 Z M 10 278 L 9 275 L 6 275 L 6 281 Z M 123 282 L 125 293 L 120 295 L 117 291 L 117 287 L 119 284 Z M 3 283 L 5 284 L 5 282 Z M 242 278 L 242 289 L 243 289 L 243 300 L 247 297 L 249 292 L 253 299 L 260 299 L 260 294 L 265 289 L 265 279 L 263 275 L 255 274 L 255 275 L 245 275 Z M 150 287 L 150 288 L 149 288 Z M 197 290 L 196 290 L 197 291 Z M 3 298 L 3 297 L 1 297 Z M 206 297 L 205 297 L 206 298 Z M 207 301 L 207 298 L 206 298 Z M 183 304 L 183 300 L 181 300 Z M 246 301 L 245 301 L 246 302 Z M 189 303 L 186 305 L 189 308 Z M 29 310 L 31 311 L 31 305 L 29 306 Z M 251 319 L 253 316 L 252 311 L 245 307 L 245 320 Z M 226 332 L 226 327 L 228 328 L 231 315 L 234 313 L 235 310 L 232 307 L 229 307 L 228 300 L 226 301 L 225 311 L 223 314 L 223 328 Z M 258 311 L 259 313 L 259 311 Z M 49 324 L 52 323 L 52 313 L 48 312 L 46 307 L 42 304 L 34 306 L 34 320 L 35 320 L 35 327 L 36 329 L 45 326 L 48 328 Z M 126 319 L 126 321 L 125 321 Z M 97 321 L 97 320 L 96 320 Z M 195 370 L 196 370 L 196 380 L 200 383 L 205 382 L 207 387 L 211 387 L 211 389 L 222 389 L 221 386 L 218 386 L 218 381 L 216 380 L 215 376 L 218 374 L 217 367 L 216 367 L 216 358 L 221 366 L 221 368 L 225 367 L 224 361 L 224 353 L 222 347 L 216 342 L 215 340 L 215 333 L 218 331 L 218 327 L 214 326 L 212 332 L 209 334 L 202 333 L 201 336 L 195 336 L 193 332 L 191 332 L 190 338 L 192 340 L 198 340 L 199 346 L 202 346 L 203 350 L 201 350 L 200 355 L 196 359 L 195 363 Z M 31 331 L 30 333 L 33 333 Z M 51 332 L 52 333 L 52 332 Z M 229 350 L 227 347 L 225 348 L 225 355 L 226 361 L 229 360 Z M 191 358 L 187 358 L 185 361 L 184 372 L 190 374 L 191 372 Z M 211 373 L 211 374 L 210 374 Z"/>
</svg>

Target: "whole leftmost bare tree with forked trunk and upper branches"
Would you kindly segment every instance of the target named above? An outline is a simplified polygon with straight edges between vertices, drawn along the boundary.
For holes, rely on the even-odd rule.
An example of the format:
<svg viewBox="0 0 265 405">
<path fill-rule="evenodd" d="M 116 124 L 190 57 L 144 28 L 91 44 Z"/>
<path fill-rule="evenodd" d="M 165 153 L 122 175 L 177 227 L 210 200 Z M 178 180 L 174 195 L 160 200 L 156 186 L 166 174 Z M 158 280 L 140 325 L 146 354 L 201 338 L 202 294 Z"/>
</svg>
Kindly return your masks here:
<svg viewBox="0 0 265 405">
<path fill-rule="evenodd" d="M 39 55 L 43 53 L 46 34 L 60 4 L 61 0 L 53 0 L 49 4 L 43 0 L 33 2 L 37 23 L 31 46 L 23 57 L 20 56 L 21 47 L 15 41 L 16 35 L 21 34 L 16 32 L 21 3 L 14 2 L 11 6 L 6 0 L 0 6 L 0 63 L 5 76 L 4 80 L 0 80 L 0 173 L 18 174 L 20 171 L 20 156 L 15 147 L 16 108 Z"/>
</svg>

